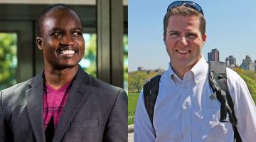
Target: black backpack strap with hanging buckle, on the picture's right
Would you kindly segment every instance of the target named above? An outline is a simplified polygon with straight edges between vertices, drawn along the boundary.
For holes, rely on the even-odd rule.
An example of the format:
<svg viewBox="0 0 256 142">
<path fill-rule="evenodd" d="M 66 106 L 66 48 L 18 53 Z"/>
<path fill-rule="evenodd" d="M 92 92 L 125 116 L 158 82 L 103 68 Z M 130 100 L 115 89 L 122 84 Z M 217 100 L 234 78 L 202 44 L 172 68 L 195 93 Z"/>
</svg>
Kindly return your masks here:
<svg viewBox="0 0 256 142">
<path fill-rule="evenodd" d="M 213 89 L 214 94 L 210 99 L 217 97 L 220 102 L 220 122 L 227 122 L 227 113 L 229 115 L 229 121 L 233 125 L 234 139 L 236 142 L 242 142 L 240 134 L 238 133 L 237 119 L 235 117 L 233 100 L 228 92 L 227 83 L 227 71 L 225 62 L 214 62 L 209 63 L 209 81 L 210 87 Z"/>
</svg>

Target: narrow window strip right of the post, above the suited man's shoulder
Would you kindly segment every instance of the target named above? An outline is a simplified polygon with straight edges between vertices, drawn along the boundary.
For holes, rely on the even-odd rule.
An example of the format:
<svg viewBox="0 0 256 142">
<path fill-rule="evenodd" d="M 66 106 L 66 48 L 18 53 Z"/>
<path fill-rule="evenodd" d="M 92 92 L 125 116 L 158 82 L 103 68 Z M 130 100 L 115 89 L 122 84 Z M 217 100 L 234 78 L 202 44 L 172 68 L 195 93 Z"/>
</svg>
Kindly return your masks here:
<svg viewBox="0 0 256 142">
<path fill-rule="evenodd" d="M 124 90 L 128 92 L 128 35 L 123 35 L 124 46 Z"/>
</svg>

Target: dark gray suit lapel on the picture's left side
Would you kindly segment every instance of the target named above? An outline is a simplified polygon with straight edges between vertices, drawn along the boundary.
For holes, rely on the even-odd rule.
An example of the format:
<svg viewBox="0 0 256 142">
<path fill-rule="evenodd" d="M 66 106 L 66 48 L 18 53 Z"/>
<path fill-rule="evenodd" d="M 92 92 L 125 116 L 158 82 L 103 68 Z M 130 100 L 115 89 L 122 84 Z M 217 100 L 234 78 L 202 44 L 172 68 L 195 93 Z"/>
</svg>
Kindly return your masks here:
<svg viewBox="0 0 256 142">
<path fill-rule="evenodd" d="M 31 80 L 31 89 L 26 91 L 28 116 L 36 141 L 46 141 L 43 133 L 43 77 L 42 73 Z"/>
</svg>

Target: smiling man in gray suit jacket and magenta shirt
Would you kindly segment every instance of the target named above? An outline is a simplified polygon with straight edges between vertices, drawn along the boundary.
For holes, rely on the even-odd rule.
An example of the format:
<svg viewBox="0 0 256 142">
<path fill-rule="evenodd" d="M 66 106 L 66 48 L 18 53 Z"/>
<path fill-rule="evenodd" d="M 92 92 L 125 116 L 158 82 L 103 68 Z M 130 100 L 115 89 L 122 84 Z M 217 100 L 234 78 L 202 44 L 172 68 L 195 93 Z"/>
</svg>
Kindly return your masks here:
<svg viewBox="0 0 256 142">
<path fill-rule="evenodd" d="M 0 92 L 0 141 L 127 141 L 127 94 L 78 65 L 85 52 L 78 14 L 50 6 L 36 42 L 45 70 Z"/>
</svg>

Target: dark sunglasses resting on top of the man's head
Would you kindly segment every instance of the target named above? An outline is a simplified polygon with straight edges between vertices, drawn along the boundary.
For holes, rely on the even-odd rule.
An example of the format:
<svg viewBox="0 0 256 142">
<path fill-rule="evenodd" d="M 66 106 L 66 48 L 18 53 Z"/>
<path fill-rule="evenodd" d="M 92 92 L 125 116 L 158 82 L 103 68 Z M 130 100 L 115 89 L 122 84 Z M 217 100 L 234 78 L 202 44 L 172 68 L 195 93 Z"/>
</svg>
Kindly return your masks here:
<svg viewBox="0 0 256 142">
<path fill-rule="evenodd" d="M 173 3 L 171 3 L 168 8 L 167 8 L 167 12 L 170 11 L 171 9 L 173 9 L 176 6 L 187 6 L 187 7 L 191 7 L 192 9 L 195 9 L 196 11 L 202 13 L 203 15 L 203 9 L 201 8 L 201 6 L 199 6 L 199 4 L 196 4 L 193 1 L 174 1 Z"/>
</svg>

